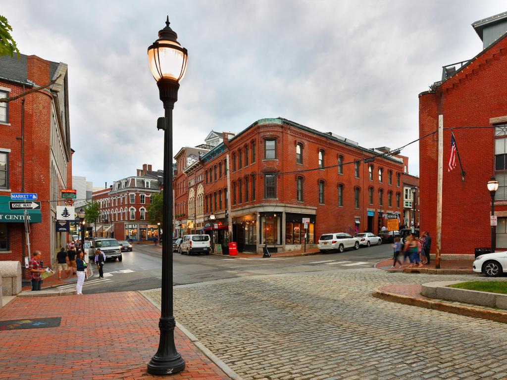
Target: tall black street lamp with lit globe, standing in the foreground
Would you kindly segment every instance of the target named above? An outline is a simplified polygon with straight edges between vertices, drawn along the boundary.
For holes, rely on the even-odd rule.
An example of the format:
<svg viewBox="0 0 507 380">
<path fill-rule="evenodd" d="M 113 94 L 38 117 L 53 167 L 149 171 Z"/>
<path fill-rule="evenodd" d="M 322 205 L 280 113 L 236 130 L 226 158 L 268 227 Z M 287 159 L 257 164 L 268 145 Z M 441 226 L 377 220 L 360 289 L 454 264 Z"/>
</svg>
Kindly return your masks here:
<svg viewBox="0 0 507 380">
<path fill-rule="evenodd" d="M 157 81 L 160 100 L 164 104 L 164 195 L 163 217 L 165 231 L 172 231 L 172 109 L 178 100 L 179 81 L 187 68 L 187 49 L 176 41 L 177 34 L 166 26 L 159 31 L 159 38 L 148 48 L 148 61 L 153 78 Z M 185 360 L 174 345 L 174 326 L 172 305 L 172 252 L 170 244 L 162 245 L 162 305 L 159 321 L 160 341 L 157 353 L 148 363 L 148 373 L 163 375 L 181 372 Z"/>
</svg>

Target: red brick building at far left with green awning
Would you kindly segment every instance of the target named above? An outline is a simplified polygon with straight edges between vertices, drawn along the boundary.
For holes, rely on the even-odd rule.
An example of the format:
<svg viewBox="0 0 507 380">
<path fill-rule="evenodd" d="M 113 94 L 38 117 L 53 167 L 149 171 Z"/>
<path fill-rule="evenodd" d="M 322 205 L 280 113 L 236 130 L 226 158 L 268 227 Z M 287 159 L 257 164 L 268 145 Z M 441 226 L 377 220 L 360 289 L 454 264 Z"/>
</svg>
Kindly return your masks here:
<svg viewBox="0 0 507 380">
<path fill-rule="evenodd" d="M 59 78 L 58 78 L 59 77 Z M 58 78 L 58 79 L 57 79 Z M 65 63 L 31 55 L 0 57 L 0 98 L 56 82 L 49 88 L 0 103 L 0 260 L 28 257 L 40 250 L 45 265 L 55 263 L 67 233 L 55 232 L 61 189 L 72 188 L 72 154 Z M 37 193 L 41 210 L 9 209 L 11 193 Z"/>
</svg>

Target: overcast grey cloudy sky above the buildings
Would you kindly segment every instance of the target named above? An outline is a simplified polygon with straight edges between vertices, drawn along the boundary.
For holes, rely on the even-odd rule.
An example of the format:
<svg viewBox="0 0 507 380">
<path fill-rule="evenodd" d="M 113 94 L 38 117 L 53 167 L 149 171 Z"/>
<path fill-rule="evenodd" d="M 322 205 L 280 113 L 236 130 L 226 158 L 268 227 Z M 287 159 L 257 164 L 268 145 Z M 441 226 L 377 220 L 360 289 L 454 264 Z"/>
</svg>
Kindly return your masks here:
<svg viewBox="0 0 507 380">
<path fill-rule="evenodd" d="M 103 186 L 163 167 L 147 47 L 169 15 L 189 65 L 173 149 L 284 117 L 368 148 L 418 135 L 418 94 L 482 50 L 501 1 L 2 0 L 19 50 L 69 65 L 73 174 Z M 419 173 L 417 144 L 403 150 Z"/>
</svg>

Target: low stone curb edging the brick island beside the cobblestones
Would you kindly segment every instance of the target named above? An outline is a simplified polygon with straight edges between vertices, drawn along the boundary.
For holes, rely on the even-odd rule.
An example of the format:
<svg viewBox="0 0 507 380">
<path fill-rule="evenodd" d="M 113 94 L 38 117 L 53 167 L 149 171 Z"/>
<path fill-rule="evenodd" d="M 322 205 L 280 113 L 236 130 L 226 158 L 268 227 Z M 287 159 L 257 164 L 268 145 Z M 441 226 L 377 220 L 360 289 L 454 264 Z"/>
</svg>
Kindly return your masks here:
<svg viewBox="0 0 507 380">
<path fill-rule="evenodd" d="M 489 319 L 495 322 L 507 323 L 507 313 L 492 310 L 484 310 L 472 306 L 450 305 L 449 303 L 439 302 L 432 299 L 420 299 L 401 295 L 382 290 L 382 287 L 376 288 L 373 292 L 375 298 L 385 301 L 403 303 L 404 305 L 417 306 L 419 308 L 438 310 L 441 312 L 460 314 L 467 317 Z"/>
</svg>

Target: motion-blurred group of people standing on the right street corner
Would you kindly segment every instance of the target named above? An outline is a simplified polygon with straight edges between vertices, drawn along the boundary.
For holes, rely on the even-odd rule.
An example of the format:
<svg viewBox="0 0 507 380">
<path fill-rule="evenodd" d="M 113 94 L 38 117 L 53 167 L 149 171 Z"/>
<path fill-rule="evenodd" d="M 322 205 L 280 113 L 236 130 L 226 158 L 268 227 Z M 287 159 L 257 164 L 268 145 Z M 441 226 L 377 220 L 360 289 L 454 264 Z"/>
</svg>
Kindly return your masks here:
<svg viewBox="0 0 507 380">
<path fill-rule="evenodd" d="M 395 238 L 392 247 L 394 250 L 392 268 L 395 268 L 397 263 L 400 264 L 400 267 L 403 267 L 407 258 L 410 261 L 410 265 L 407 268 L 413 268 L 416 265 L 418 268 L 421 268 L 423 264 L 428 265 L 430 263 L 431 237 L 427 231 L 422 234 L 421 238 L 414 235 L 407 236 L 405 244 L 401 242 L 400 238 Z M 402 254 L 403 261 L 401 258 Z"/>
</svg>

